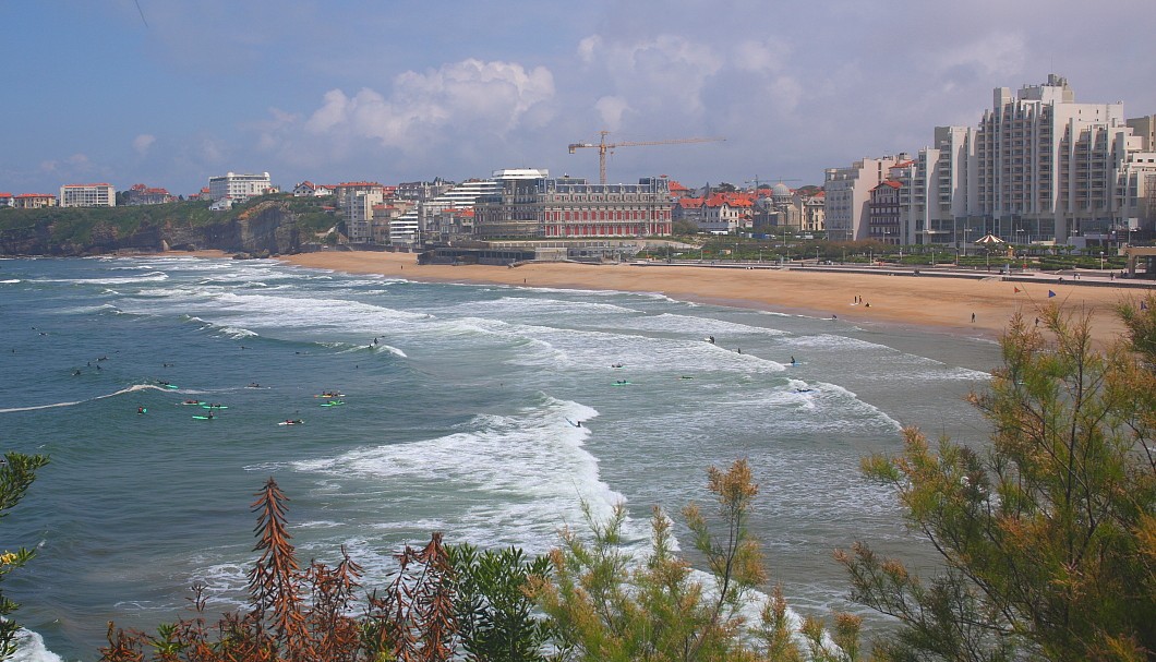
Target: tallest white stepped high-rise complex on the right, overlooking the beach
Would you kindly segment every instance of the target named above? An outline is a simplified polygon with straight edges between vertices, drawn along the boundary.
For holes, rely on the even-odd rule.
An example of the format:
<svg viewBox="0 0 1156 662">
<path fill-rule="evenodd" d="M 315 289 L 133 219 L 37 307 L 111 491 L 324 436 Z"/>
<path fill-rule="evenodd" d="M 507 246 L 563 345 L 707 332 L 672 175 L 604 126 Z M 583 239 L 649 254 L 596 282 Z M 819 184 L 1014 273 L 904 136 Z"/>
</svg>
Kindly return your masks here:
<svg viewBox="0 0 1156 662">
<path fill-rule="evenodd" d="M 1144 220 L 1151 230 L 1156 117 L 1125 119 L 1119 102 L 1076 103 L 1051 74 L 1015 95 L 995 88 L 978 127 L 936 127 L 934 146 L 891 177 L 911 243 L 1119 241 Z"/>
</svg>

